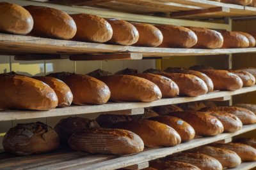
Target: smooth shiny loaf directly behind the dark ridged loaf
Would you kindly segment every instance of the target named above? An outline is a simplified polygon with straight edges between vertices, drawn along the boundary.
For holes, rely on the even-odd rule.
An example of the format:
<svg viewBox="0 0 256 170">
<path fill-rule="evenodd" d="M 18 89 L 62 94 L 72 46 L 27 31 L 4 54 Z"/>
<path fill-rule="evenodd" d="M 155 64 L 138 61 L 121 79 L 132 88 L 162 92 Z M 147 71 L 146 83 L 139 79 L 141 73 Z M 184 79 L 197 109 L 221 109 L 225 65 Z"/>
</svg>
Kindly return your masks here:
<svg viewBox="0 0 256 170">
<path fill-rule="evenodd" d="M 172 127 L 152 120 L 118 122 L 112 127 L 138 134 L 148 147 L 175 146 L 181 141 L 179 134 Z"/>
</svg>

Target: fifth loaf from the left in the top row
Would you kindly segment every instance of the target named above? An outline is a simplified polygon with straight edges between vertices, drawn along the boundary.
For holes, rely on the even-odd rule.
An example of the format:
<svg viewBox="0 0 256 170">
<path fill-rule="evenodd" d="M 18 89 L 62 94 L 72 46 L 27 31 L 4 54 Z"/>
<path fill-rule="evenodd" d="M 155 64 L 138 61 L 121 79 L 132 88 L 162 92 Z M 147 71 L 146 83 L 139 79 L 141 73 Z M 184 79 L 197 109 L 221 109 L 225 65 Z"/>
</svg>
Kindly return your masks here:
<svg viewBox="0 0 256 170">
<path fill-rule="evenodd" d="M 162 32 L 154 25 L 135 22 L 132 22 L 131 24 L 136 27 L 140 34 L 139 40 L 134 44 L 134 46 L 155 47 L 161 45 L 163 42 Z"/>
</svg>

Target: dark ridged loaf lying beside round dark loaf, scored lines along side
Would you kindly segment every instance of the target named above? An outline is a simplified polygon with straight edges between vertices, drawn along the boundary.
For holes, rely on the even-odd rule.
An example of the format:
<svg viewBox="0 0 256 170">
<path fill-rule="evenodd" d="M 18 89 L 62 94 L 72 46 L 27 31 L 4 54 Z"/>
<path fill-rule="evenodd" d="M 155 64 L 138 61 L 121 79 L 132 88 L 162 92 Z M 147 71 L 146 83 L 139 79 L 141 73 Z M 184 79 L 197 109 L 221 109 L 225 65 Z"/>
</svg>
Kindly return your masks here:
<svg viewBox="0 0 256 170">
<path fill-rule="evenodd" d="M 141 138 L 122 129 L 87 129 L 75 132 L 68 139 L 68 145 L 77 151 L 127 155 L 143 151 Z"/>
</svg>

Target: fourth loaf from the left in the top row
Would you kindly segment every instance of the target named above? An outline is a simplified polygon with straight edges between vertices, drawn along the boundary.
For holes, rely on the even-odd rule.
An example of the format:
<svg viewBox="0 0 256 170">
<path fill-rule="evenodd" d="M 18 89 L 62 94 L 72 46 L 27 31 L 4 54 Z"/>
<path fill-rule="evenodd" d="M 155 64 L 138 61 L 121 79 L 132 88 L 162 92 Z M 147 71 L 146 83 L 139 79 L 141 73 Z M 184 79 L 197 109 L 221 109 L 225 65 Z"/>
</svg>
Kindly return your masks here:
<svg viewBox="0 0 256 170">
<path fill-rule="evenodd" d="M 113 29 L 113 36 L 108 43 L 116 45 L 133 45 L 139 39 L 139 32 L 134 25 L 125 20 L 110 18 L 107 20 Z"/>
</svg>

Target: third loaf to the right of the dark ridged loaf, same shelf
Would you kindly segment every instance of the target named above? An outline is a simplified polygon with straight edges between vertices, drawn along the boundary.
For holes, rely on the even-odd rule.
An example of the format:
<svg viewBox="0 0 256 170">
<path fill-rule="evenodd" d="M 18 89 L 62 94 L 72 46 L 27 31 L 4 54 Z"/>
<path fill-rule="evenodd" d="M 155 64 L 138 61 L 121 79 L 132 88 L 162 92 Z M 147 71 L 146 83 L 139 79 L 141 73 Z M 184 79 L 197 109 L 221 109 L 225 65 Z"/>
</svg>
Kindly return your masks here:
<svg viewBox="0 0 256 170">
<path fill-rule="evenodd" d="M 220 120 L 207 113 L 198 111 L 179 111 L 172 112 L 168 115 L 178 117 L 188 122 L 198 136 L 215 136 L 224 131 L 223 125 Z"/>
</svg>

